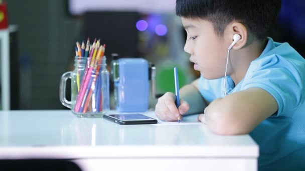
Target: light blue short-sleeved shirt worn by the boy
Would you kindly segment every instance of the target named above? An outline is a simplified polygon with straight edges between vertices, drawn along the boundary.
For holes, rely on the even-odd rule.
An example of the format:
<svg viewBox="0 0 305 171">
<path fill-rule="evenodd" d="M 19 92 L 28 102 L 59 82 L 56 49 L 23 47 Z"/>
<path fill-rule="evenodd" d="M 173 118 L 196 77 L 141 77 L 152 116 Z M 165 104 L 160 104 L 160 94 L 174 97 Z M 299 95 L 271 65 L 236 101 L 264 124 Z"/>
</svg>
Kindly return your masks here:
<svg viewBox="0 0 305 171">
<path fill-rule="evenodd" d="M 259 170 L 305 170 L 305 59 L 288 43 L 268 37 L 265 49 L 237 85 L 226 78 L 227 94 L 259 87 L 277 102 L 277 112 L 250 132 L 259 145 Z M 224 97 L 223 79 L 199 79 L 199 90 L 208 102 Z"/>
</svg>

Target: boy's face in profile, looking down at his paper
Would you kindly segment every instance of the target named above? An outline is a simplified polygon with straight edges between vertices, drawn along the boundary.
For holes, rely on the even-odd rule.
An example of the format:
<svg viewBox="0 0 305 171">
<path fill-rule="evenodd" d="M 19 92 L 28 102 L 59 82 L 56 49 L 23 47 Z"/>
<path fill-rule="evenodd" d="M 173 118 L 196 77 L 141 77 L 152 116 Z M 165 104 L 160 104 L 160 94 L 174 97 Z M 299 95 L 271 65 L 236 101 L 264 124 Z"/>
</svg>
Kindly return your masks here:
<svg viewBox="0 0 305 171">
<path fill-rule="evenodd" d="M 184 50 L 191 54 L 194 69 L 199 70 L 206 79 L 223 77 L 229 38 L 218 36 L 212 23 L 203 19 L 182 17 L 182 23 L 188 34 Z"/>
</svg>

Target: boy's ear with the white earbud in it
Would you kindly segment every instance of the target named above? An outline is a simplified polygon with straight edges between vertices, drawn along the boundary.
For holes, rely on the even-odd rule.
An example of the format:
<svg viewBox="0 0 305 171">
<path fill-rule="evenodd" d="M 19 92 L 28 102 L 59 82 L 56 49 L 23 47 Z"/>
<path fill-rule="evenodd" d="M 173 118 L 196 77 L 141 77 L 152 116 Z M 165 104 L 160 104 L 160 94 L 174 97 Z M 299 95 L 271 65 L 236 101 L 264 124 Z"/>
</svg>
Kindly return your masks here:
<svg viewBox="0 0 305 171">
<path fill-rule="evenodd" d="M 240 40 L 238 40 L 232 48 L 236 50 L 244 47 L 248 41 L 248 31 L 246 26 L 240 22 L 233 22 L 230 24 L 229 29 L 229 32 L 232 33 L 232 41 L 234 34 L 239 34 L 241 36 Z"/>
</svg>

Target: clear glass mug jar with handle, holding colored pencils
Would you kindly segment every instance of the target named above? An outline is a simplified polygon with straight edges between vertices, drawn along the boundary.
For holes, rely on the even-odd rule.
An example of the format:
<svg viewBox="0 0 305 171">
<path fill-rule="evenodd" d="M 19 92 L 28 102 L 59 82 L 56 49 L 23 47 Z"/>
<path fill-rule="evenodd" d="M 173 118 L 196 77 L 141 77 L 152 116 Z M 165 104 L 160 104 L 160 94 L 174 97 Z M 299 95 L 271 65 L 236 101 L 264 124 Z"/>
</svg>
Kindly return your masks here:
<svg viewBox="0 0 305 171">
<path fill-rule="evenodd" d="M 109 71 L 106 56 L 75 57 L 75 69 L 62 75 L 61 103 L 79 117 L 100 117 L 109 110 Z M 71 79 L 71 101 L 66 99 L 66 81 Z"/>
</svg>

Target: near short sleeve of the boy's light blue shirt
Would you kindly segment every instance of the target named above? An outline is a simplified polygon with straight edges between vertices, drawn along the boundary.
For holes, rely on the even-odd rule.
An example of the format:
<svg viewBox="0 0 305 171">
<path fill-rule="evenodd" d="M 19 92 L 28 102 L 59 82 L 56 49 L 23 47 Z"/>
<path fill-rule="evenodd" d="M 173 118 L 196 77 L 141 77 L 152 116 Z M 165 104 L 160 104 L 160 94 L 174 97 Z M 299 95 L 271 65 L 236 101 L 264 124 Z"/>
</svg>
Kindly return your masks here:
<svg viewBox="0 0 305 171">
<path fill-rule="evenodd" d="M 293 63 L 273 55 L 255 63 L 256 68 L 243 82 L 243 88 L 259 87 L 269 92 L 276 100 L 275 116 L 289 116 L 303 101 L 304 62 Z M 303 68 L 302 68 L 303 67 Z"/>
</svg>

